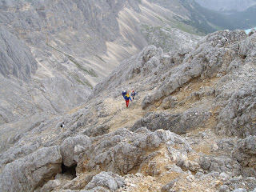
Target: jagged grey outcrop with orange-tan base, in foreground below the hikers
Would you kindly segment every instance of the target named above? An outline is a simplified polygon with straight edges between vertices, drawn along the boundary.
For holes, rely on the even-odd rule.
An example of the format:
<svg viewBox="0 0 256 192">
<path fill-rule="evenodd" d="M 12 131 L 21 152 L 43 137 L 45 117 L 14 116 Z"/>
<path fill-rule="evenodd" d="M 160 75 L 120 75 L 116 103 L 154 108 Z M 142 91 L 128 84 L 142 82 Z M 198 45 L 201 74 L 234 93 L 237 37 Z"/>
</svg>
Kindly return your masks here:
<svg viewBox="0 0 256 192">
<path fill-rule="evenodd" d="M 118 140 L 114 139 L 117 138 Z M 126 140 L 129 138 L 129 140 Z M 99 140 L 98 140 L 99 139 Z M 104 166 L 106 171 L 117 174 L 127 174 L 137 166 L 143 166 L 146 159 L 154 157 L 156 154 L 146 154 L 146 151 L 158 149 L 162 144 L 168 146 L 181 146 L 182 151 L 187 154 L 191 151 L 190 145 L 178 134 L 171 133 L 169 130 L 149 130 L 140 129 L 133 133 L 128 130 L 118 130 L 111 134 L 100 136 L 96 141 L 94 150 L 90 153 L 86 168 L 95 170 L 98 166 Z M 174 157 L 175 156 L 175 157 Z M 178 159 L 179 152 L 173 153 L 172 158 Z M 185 158 L 185 156 L 184 156 Z M 82 165 L 78 164 L 78 167 Z"/>
</svg>

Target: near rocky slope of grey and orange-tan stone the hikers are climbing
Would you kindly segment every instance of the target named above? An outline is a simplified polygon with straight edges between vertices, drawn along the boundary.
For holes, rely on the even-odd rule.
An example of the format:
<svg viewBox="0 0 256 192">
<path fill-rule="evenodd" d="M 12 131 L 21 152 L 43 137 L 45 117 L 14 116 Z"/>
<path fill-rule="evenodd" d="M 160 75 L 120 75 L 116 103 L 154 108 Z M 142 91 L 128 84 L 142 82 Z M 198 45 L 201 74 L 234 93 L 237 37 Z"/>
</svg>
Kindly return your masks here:
<svg viewBox="0 0 256 192">
<path fill-rule="evenodd" d="M 255 31 L 225 30 L 147 46 L 83 106 L 10 137 L 0 189 L 255 191 L 255 45 Z M 128 108 L 124 89 L 138 93 Z"/>
</svg>

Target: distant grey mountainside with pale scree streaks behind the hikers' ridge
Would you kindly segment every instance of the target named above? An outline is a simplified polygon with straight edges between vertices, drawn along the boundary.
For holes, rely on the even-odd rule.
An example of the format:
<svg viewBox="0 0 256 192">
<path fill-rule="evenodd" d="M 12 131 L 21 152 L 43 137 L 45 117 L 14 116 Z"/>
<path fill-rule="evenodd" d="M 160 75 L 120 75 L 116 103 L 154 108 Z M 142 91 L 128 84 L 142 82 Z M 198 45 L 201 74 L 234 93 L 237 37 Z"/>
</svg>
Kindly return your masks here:
<svg viewBox="0 0 256 192">
<path fill-rule="evenodd" d="M 170 29 L 181 23 L 173 16 L 188 18 L 179 1 L 175 9 L 168 5 L 2 0 L 0 125 L 27 117 L 40 122 L 86 102 L 92 88 L 119 62 L 157 38 L 149 28 Z M 178 39 L 186 41 L 184 35 Z"/>
</svg>

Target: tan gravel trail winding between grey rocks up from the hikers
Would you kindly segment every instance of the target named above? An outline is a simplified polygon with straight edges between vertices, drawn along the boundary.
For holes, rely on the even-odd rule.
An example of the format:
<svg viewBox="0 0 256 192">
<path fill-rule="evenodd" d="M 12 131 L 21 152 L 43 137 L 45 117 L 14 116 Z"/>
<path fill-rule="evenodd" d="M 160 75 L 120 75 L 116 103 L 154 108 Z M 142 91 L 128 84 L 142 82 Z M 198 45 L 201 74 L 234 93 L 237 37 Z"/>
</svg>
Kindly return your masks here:
<svg viewBox="0 0 256 192">
<path fill-rule="evenodd" d="M 143 118 L 149 112 L 169 112 L 173 114 L 182 113 L 194 105 L 202 106 L 213 106 L 214 100 L 209 94 L 203 94 L 201 97 L 198 96 L 200 90 L 214 90 L 214 86 L 218 83 L 218 78 L 211 78 L 209 80 L 198 82 L 192 81 L 187 83 L 185 86 L 182 86 L 181 89 L 175 91 L 171 94 L 172 97 L 176 98 L 178 104 L 170 109 L 162 108 L 162 99 L 159 102 L 156 102 L 153 106 L 148 107 L 146 110 L 142 110 L 142 100 L 146 94 L 150 94 L 151 90 L 144 90 L 139 92 L 139 95 L 130 102 L 130 106 L 126 107 L 126 102 L 122 98 L 122 95 L 117 97 L 111 96 L 106 92 L 102 93 L 101 98 L 102 102 L 98 102 L 98 105 L 92 100 L 86 105 L 90 106 L 90 114 L 92 117 L 97 118 L 98 125 L 107 124 L 109 126 L 108 132 L 114 132 L 122 127 L 131 127 L 136 121 L 140 118 Z M 79 110 L 82 110 L 84 106 L 79 106 L 70 110 L 70 114 L 75 114 Z M 191 130 L 188 134 L 184 134 L 182 137 L 186 141 L 190 142 L 190 146 L 194 150 L 194 153 L 191 153 L 186 158 L 187 161 L 194 161 L 195 159 L 200 158 L 199 154 L 207 155 L 221 155 L 218 151 L 218 146 L 216 141 L 220 138 L 214 134 L 213 128 L 216 125 L 215 115 L 218 113 L 218 106 L 215 106 L 212 110 L 212 116 L 209 121 L 206 122 L 206 125 L 203 127 L 198 127 L 195 130 Z M 159 127 L 161 128 L 161 127 Z M 138 167 L 130 170 L 129 174 L 126 174 L 126 186 L 120 188 L 118 191 L 129 191 L 129 192 L 153 192 L 160 191 L 162 186 L 166 185 L 170 180 L 176 178 L 179 179 L 179 183 L 175 184 L 177 190 L 188 189 L 187 186 L 190 186 L 190 191 L 218 191 L 216 186 L 220 185 L 219 182 L 211 183 L 209 178 L 205 181 L 197 181 L 194 178 L 194 173 L 190 176 L 186 172 L 176 172 L 171 170 L 172 167 L 175 167 L 175 159 L 170 158 L 170 152 L 168 151 L 165 144 L 159 146 L 157 149 L 150 151 L 150 153 L 155 154 L 152 158 L 141 166 L 138 170 Z M 190 182 L 195 180 L 194 184 L 191 185 Z"/>
</svg>

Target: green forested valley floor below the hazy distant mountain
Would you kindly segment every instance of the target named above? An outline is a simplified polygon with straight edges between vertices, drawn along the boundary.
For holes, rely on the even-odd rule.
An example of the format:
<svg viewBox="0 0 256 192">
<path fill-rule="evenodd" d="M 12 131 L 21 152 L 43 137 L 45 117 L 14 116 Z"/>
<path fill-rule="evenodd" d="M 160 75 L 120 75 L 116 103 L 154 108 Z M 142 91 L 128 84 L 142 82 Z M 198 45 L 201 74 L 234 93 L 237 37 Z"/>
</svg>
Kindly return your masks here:
<svg viewBox="0 0 256 192">
<path fill-rule="evenodd" d="M 197 2 L 180 0 L 183 7 L 189 12 L 189 19 L 178 16 L 166 18 L 170 26 L 190 34 L 209 34 L 216 30 L 249 29 L 256 26 L 256 6 L 242 12 L 223 14 L 218 11 L 208 10 Z"/>
</svg>

